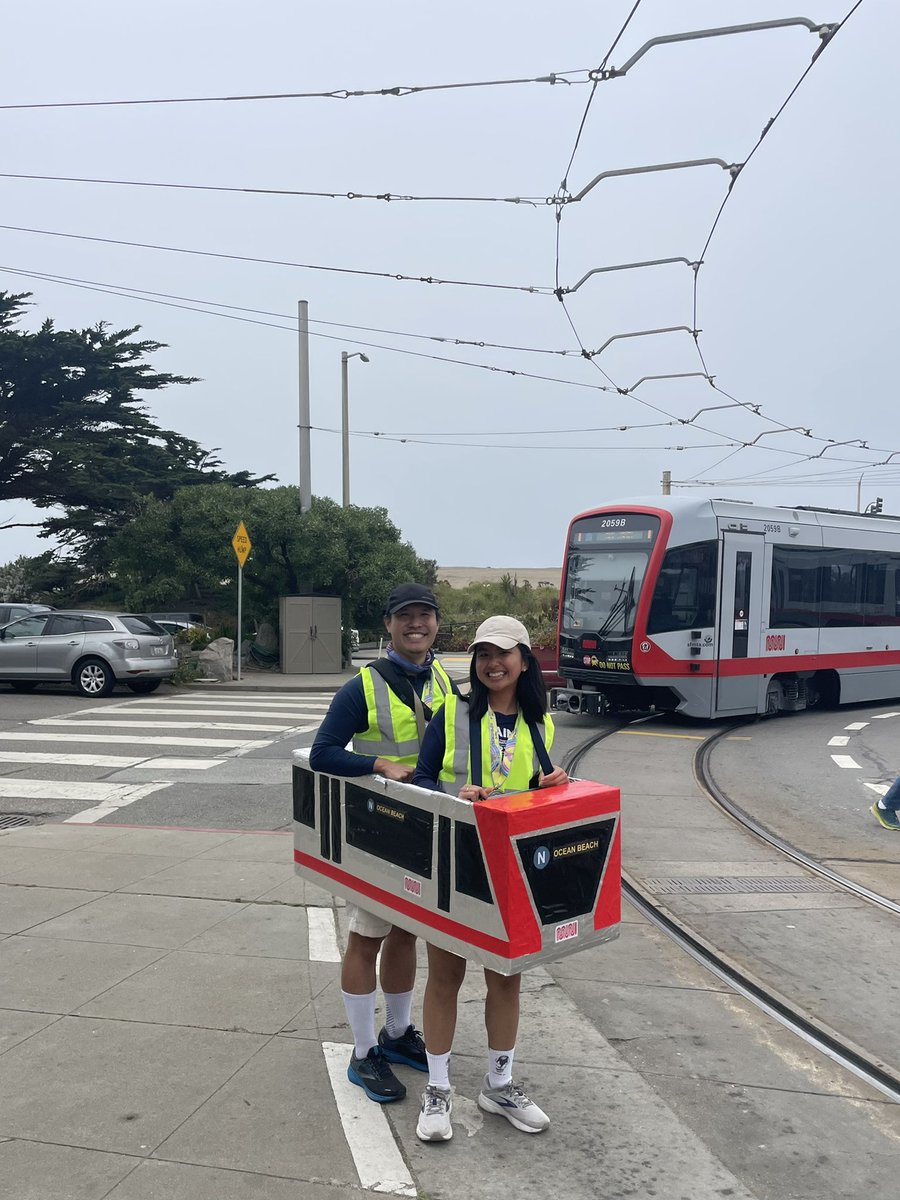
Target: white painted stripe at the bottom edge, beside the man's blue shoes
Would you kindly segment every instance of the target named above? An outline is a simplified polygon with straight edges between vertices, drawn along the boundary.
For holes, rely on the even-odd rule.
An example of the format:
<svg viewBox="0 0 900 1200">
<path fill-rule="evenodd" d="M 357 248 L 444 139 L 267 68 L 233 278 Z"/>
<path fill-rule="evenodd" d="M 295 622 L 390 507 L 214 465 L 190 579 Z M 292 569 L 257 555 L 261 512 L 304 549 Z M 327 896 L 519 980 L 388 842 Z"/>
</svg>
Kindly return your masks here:
<svg viewBox="0 0 900 1200">
<path fill-rule="evenodd" d="M 352 1050 L 353 1046 L 337 1042 L 322 1043 L 337 1115 L 360 1186 L 371 1192 L 415 1196 L 415 1183 L 382 1111 L 383 1105 L 373 1104 L 361 1087 L 354 1087 L 347 1079 Z"/>
</svg>

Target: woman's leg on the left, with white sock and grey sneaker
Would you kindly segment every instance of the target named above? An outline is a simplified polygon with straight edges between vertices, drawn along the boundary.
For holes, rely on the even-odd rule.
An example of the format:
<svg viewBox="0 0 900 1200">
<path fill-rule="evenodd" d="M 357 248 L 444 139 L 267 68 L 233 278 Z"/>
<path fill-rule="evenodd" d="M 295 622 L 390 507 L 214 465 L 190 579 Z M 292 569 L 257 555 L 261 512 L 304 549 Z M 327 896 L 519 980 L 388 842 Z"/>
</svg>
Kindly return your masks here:
<svg viewBox="0 0 900 1200">
<path fill-rule="evenodd" d="M 457 998 L 464 978 L 466 959 L 428 946 L 428 979 L 422 1008 L 428 1084 L 415 1127 L 421 1141 L 449 1141 L 454 1134 L 450 1124 L 450 1049 L 456 1033 Z"/>
</svg>

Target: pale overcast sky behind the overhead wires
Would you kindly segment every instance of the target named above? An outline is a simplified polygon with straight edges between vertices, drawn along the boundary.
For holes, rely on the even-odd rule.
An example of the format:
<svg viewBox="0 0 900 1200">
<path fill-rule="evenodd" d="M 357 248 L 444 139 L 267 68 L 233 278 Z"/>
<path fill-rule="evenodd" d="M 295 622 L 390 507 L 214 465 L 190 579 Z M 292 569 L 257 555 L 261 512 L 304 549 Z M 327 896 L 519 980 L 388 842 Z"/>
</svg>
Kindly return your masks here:
<svg viewBox="0 0 900 1200">
<path fill-rule="evenodd" d="M 632 0 L 4 5 L 0 106 L 551 72 L 578 82 L 401 97 L 6 108 L 2 172 L 194 187 L 553 197 L 592 95 L 581 80 L 604 60 L 631 7 Z M 836 22 L 851 7 L 852 0 L 642 0 L 608 65 L 660 35 L 796 16 Z M 653 48 L 594 90 L 569 192 L 601 172 L 694 158 L 743 162 L 818 44 L 816 34 L 790 28 Z M 218 448 L 230 469 L 272 472 L 283 484 L 296 484 L 299 474 L 295 316 L 298 300 L 307 300 L 313 494 L 341 498 L 341 350 L 364 350 L 368 365 L 349 364 L 352 500 L 384 505 L 416 551 L 444 565 L 556 564 L 572 515 L 658 494 L 665 469 L 677 490 L 713 480 L 708 494 L 846 509 L 857 508 L 859 491 L 863 506 L 882 496 L 886 511 L 900 512 L 898 44 L 900 5 L 864 0 L 742 172 L 698 271 L 706 367 L 728 396 L 760 406 L 760 415 L 732 407 L 682 424 L 708 406 L 732 403 L 697 376 L 647 380 L 632 395 L 598 390 L 703 370 L 685 331 L 613 341 L 593 364 L 398 336 L 571 352 L 636 330 L 690 329 L 694 276 L 683 263 L 587 280 L 566 296 L 578 341 L 552 292 L 424 284 L 48 234 L 552 289 L 557 221 L 548 204 L 4 178 L 0 288 L 34 292 L 30 328 L 47 317 L 59 328 L 140 324 L 142 336 L 168 346 L 155 359 L 160 370 L 203 380 L 150 396 L 160 424 Z M 560 284 L 604 265 L 696 260 L 728 180 L 706 166 L 598 184 L 563 209 Z M 11 268 L 190 298 L 220 314 L 26 278 Z M 284 328 L 221 316 L 229 311 Z M 373 438 L 376 431 L 383 437 Z M 862 439 L 870 449 L 827 448 L 822 439 Z M 890 467 L 875 466 L 892 451 Z M 31 511 L 0 504 L 0 522 L 31 520 Z M 0 530 L 0 562 L 44 546 L 31 530 Z"/>
</svg>

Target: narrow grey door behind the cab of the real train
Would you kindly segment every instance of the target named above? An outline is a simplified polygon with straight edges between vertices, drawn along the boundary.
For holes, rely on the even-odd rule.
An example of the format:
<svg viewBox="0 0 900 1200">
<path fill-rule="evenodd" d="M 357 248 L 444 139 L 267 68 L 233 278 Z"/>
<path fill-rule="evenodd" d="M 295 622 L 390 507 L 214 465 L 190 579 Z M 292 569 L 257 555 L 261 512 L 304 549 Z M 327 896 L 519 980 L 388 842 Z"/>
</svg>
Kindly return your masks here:
<svg viewBox="0 0 900 1200">
<path fill-rule="evenodd" d="M 762 534 L 725 530 L 716 646 L 715 715 L 755 713 L 760 703 Z"/>
</svg>

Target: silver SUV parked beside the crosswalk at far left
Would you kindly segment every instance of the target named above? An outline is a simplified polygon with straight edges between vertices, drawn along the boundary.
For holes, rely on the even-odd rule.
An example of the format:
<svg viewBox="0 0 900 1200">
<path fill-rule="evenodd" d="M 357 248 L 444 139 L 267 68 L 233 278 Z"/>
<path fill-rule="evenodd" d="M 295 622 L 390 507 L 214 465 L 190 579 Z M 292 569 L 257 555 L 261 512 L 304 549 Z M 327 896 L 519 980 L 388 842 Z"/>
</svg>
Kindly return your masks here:
<svg viewBox="0 0 900 1200">
<path fill-rule="evenodd" d="M 13 691 L 72 683 L 83 696 L 108 696 L 124 683 L 145 694 L 176 666 L 172 636 L 133 613 L 41 612 L 0 629 L 0 680 Z"/>
</svg>

